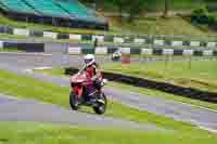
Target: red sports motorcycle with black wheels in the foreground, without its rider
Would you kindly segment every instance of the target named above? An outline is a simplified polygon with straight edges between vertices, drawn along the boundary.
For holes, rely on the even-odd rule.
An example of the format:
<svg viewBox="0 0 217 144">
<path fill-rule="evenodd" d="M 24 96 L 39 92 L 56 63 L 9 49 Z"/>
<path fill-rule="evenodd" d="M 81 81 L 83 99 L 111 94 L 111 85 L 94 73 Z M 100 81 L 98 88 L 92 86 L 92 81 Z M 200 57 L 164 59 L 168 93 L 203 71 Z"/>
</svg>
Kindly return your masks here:
<svg viewBox="0 0 217 144">
<path fill-rule="evenodd" d="M 93 102 L 89 102 L 88 88 L 93 88 L 94 81 L 89 77 L 85 70 L 80 70 L 71 77 L 71 93 L 69 104 L 73 110 L 77 110 L 80 105 L 91 106 L 97 114 L 104 114 L 106 110 L 107 100 L 103 92 L 103 86 L 106 80 L 98 82 L 100 86 L 91 92 L 91 96 L 94 97 Z"/>
</svg>

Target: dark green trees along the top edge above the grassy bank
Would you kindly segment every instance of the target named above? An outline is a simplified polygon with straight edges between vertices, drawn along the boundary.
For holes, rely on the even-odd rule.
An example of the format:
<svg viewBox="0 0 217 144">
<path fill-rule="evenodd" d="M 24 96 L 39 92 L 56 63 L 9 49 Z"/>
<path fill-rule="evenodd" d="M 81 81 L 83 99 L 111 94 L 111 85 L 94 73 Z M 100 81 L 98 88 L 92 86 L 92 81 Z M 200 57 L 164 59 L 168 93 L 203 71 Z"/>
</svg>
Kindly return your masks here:
<svg viewBox="0 0 217 144">
<path fill-rule="evenodd" d="M 132 22 L 138 15 L 144 14 L 145 12 L 150 11 L 157 11 L 163 13 L 163 17 L 168 16 L 168 12 L 173 10 L 174 3 L 176 4 L 183 4 L 186 3 L 186 6 L 194 5 L 197 3 L 206 3 L 206 2 L 216 2 L 217 0 L 80 0 L 82 2 L 88 3 L 95 3 L 95 4 L 106 4 L 110 3 L 114 5 L 119 15 L 122 16 L 122 13 L 127 13 L 128 21 Z M 176 9 L 176 8 L 175 8 Z"/>
</svg>

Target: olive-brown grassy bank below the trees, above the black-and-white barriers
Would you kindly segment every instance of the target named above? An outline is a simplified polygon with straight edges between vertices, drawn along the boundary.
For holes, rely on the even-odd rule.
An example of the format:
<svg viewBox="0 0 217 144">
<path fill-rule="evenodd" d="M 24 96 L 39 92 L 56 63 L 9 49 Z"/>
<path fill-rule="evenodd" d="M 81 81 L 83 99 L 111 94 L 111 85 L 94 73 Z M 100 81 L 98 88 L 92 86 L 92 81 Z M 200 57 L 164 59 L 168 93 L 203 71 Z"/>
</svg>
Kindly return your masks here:
<svg viewBox="0 0 217 144">
<path fill-rule="evenodd" d="M 191 25 L 181 17 L 162 18 L 150 17 L 140 18 L 135 24 L 119 23 L 116 18 L 111 18 L 111 29 L 116 32 L 128 34 L 145 34 L 145 35 L 188 35 L 188 36 L 205 36 L 216 35 L 217 32 L 208 29 L 200 29 Z"/>
</svg>

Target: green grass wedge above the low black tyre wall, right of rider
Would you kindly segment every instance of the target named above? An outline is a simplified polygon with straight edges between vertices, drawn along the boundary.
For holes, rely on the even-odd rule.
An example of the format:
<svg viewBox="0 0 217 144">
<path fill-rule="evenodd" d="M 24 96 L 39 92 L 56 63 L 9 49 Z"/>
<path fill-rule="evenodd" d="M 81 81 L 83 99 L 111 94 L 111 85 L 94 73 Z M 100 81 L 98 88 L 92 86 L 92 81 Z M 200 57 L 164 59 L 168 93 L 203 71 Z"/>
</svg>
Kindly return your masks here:
<svg viewBox="0 0 217 144">
<path fill-rule="evenodd" d="M 135 77 L 169 82 L 182 87 L 196 88 L 205 91 L 217 92 L 217 65 L 216 61 L 189 61 L 137 63 L 123 65 L 112 63 L 103 65 L 103 69 Z"/>
</svg>

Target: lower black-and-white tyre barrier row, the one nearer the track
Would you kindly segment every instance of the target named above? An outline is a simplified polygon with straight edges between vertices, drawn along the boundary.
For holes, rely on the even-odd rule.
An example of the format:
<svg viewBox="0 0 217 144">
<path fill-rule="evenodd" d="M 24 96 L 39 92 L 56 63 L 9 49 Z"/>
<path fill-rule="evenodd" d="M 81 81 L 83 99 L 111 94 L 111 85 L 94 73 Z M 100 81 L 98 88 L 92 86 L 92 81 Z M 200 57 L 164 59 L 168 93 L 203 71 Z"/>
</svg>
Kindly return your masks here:
<svg viewBox="0 0 217 144">
<path fill-rule="evenodd" d="M 217 56 L 217 50 L 209 49 L 159 49 L 159 48 L 123 48 L 69 44 L 63 42 L 25 42 L 23 40 L 0 40 L 0 49 L 16 48 L 26 52 L 95 54 L 95 55 L 166 55 L 166 56 Z M 118 57 L 118 56 L 117 56 Z"/>
</svg>

